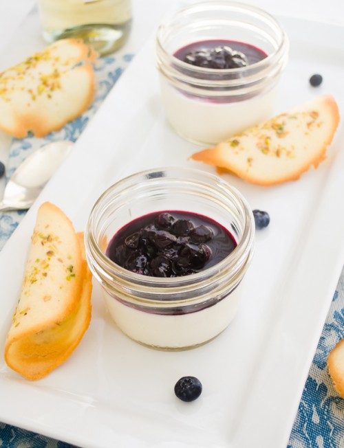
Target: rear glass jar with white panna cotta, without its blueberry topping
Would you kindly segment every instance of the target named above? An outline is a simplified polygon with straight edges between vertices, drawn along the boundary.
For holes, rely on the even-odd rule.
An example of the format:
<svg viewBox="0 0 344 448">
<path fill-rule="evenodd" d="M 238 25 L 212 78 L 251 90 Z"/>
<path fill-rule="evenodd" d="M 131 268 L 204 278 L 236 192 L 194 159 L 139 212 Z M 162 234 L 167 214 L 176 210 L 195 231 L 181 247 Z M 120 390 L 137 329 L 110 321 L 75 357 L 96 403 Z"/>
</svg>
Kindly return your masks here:
<svg viewBox="0 0 344 448">
<path fill-rule="evenodd" d="M 244 67 L 197 67 L 175 56 L 188 45 L 243 45 L 264 58 Z M 235 48 L 235 47 L 234 47 Z M 217 144 L 270 117 L 288 60 L 288 37 L 267 12 L 245 3 L 206 1 L 158 28 L 156 64 L 166 117 L 182 137 Z M 242 50 L 244 52 L 244 50 Z"/>
</svg>

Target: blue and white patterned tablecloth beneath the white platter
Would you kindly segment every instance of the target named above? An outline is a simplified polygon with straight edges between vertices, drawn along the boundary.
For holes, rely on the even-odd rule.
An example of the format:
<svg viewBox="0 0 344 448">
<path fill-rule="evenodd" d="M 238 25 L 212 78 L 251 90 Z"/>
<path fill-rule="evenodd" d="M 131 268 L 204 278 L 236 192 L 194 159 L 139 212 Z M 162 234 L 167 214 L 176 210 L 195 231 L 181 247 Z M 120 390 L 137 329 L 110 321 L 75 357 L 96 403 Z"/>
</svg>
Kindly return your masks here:
<svg viewBox="0 0 344 448">
<path fill-rule="evenodd" d="M 91 109 L 77 120 L 67 124 L 61 131 L 47 135 L 43 139 L 34 137 L 14 139 L 10 150 L 7 177 L 12 174 L 25 157 L 46 142 L 61 139 L 69 139 L 75 142 L 111 87 L 125 70 L 131 58 L 131 54 L 123 54 L 122 56 L 109 56 L 100 60 L 96 67 L 98 94 Z M 25 212 L 23 211 L 0 214 L 0 249 L 19 225 L 24 215 Z M 341 399 L 334 390 L 326 367 L 328 353 L 343 337 L 344 271 L 338 282 L 319 346 L 305 383 L 288 448 L 344 447 L 344 399 Z M 71 448 L 72 445 L 0 423 L 0 447 Z"/>
</svg>

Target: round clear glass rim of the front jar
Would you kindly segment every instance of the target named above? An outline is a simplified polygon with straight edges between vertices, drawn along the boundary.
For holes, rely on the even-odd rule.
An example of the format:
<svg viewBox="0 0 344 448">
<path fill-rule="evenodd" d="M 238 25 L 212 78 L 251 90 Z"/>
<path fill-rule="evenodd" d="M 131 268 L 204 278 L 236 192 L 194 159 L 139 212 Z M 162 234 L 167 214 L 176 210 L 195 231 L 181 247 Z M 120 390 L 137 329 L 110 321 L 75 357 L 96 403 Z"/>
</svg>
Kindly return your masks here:
<svg viewBox="0 0 344 448">
<path fill-rule="evenodd" d="M 169 177 L 164 176 L 164 173 L 168 172 Z M 120 265 L 117 265 L 114 261 L 110 260 L 110 258 L 105 254 L 105 251 L 102 250 L 98 243 L 98 238 L 95 234 L 96 223 L 94 222 L 97 218 L 97 213 L 99 210 L 104 208 L 105 204 L 111 194 L 117 189 L 120 194 L 120 189 L 125 188 L 128 184 L 132 183 L 132 185 L 137 186 L 136 180 L 138 178 L 142 178 L 145 181 L 156 181 L 156 179 L 172 179 L 172 175 L 177 176 L 180 179 L 182 177 L 184 180 L 194 175 L 202 175 L 204 181 L 202 182 L 204 185 L 208 185 L 210 181 L 216 183 L 219 190 L 224 190 L 225 192 L 230 192 L 233 194 L 235 199 L 237 199 L 238 205 L 241 207 L 241 210 L 244 211 L 244 232 L 241 236 L 240 244 L 237 243 L 237 247 L 226 256 L 223 260 L 218 262 L 216 265 L 208 267 L 200 272 L 193 273 L 187 276 L 178 276 L 175 278 L 159 278 L 153 276 L 144 276 L 140 273 L 131 272 Z M 190 179 L 189 179 L 190 180 Z M 194 179 L 193 179 L 194 180 Z M 208 182 L 206 181 L 208 180 Z M 92 211 L 89 215 L 89 220 L 87 222 L 87 227 L 85 231 L 85 241 L 87 245 L 87 257 L 93 265 L 92 258 L 96 258 L 98 269 L 101 272 L 101 276 L 105 276 L 105 278 L 113 278 L 112 276 L 116 276 L 116 278 L 120 279 L 121 282 L 135 282 L 136 285 L 140 285 L 140 288 L 152 288 L 154 291 L 158 291 L 161 289 L 166 289 L 166 287 L 171 287 L 173 289 L 183 290 L 187 289 L 189 285 L 195 282 L 199 284 L 208 282 L 210 278 L 217 278 L 217 276 L 222 276 L 224 272 L 233 270 L 233 266 L 237 263 L 238 259 L 243 258 L 246 260 L 248 258 L 249 253 L 252 252 L 252 240 L 254 238 L 255 228 L 254 228 L 254 219 L 252 215 L 252 211 L 248 206 L 246 199 L 242 196 L 242 194 L 233 186 L 230 186 L 228 182 L 224 179 L 221 179 L 217 175 L 213 175 L 210 172 L 205 172 L 202 170 L 198 170 L 195 168 L 180 168 L 180 167 L 166 167 L 166 168 L 153 168 L 150 170 L 144 170 L 141 172 L 137 172 L 133 175 L 129 175 L 120 181 L 114 183 L 112 186 L 107 188 L 103 194 L 100 195 L 96 203 L 94 204 Z M 89 252 L 89 253 L 88 253 Z"/>
</svg>

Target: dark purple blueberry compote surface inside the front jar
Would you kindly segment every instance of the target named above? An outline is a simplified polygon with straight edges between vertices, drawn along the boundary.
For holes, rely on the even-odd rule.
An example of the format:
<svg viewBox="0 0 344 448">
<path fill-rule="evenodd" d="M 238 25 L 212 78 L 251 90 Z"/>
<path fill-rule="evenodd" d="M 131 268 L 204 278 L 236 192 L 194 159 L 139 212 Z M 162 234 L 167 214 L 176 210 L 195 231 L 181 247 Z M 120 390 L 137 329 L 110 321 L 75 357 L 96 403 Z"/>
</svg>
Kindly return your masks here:
<svg viewBox="0 0 344 448">
<path fill-rule="evenodd" d="M 157 212 L 131 221 L 107 247 L 107 256 L 129 271 L 179 277 L 216 265 L 237 246 L 212 219 L 189 212 Z"/>
</svg>

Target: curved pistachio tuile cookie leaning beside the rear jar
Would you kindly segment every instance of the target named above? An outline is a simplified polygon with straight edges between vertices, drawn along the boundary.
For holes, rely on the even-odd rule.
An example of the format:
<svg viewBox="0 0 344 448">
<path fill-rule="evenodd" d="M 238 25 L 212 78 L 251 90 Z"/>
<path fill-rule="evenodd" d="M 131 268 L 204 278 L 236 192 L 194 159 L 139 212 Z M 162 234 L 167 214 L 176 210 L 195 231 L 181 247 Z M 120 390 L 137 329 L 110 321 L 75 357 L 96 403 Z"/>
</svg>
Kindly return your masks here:
<svg viewBox="0 0 344 448">
<path fill-rule="evenodd" d="M 332 96 L 319 96 L 191 156 L 262 186 L 297 180 L 326 158 L 339 123 Z"/>
</svg>

